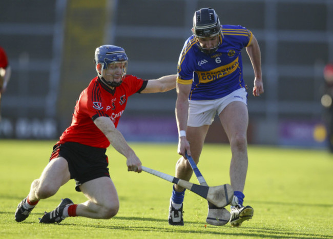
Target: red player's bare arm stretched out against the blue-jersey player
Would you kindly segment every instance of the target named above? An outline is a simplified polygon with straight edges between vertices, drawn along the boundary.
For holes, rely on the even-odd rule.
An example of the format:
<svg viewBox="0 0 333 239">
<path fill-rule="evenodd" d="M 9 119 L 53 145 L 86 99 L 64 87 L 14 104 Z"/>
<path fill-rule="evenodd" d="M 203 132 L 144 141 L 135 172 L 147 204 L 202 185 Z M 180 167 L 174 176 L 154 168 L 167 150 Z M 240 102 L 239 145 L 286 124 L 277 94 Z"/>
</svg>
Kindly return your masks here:
<svg viewBox="0 0 333 239">
<path fill-rule="evenodd" d="M 165 75 L 158 79 L 150 79 L 141 93 L 165 92 L 176 88 L 177 75 Z"/>
</svg>

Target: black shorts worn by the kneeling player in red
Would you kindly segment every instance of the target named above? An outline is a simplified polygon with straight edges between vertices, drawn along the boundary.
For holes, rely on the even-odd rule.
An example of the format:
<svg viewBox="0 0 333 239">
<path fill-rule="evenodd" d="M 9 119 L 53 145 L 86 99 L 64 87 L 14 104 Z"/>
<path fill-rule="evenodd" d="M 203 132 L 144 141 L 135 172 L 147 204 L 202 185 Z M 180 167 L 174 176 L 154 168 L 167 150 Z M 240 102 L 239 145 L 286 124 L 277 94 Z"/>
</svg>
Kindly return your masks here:
<svg viewBox="0 0 333 239">
<path fill-rule="evenodd" d="M 71 179 L 74 178 L 76 182 L 75 190 L 80 192 L 81 184 L 98 177 L 110 177 L 106 151 L 102 148 L 66 142 L 53 146 L 50 161 L 59 156 L 65 158 Z"/>
</svg>

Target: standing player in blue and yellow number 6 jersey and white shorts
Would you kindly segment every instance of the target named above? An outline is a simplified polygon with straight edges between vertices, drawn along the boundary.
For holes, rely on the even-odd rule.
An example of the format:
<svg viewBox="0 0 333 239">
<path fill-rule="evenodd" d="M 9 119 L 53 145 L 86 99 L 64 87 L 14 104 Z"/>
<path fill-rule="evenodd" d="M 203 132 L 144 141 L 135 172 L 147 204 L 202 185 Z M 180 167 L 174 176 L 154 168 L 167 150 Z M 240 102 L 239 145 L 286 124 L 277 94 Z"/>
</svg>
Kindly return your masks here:
<svg viewBox="0 0 333 239">
<path fill-rule="evenodd" d="M 231 212 L 209 203 L 206 222 L 240 226 L 253 216 L 243 206 L 247 172 L 247 92 L 243 79 L 241 50 L 251 59 L 255 79 L 253 94 L 264 92 L 261 53 L 257 39 L 242 26 L 220 25 L 212 8 L 202 8 L 193 18 L 193 35 L 179 56 L 176 119 L 179 131 L 176 177 L 189 181 L 193 170 L 185 152 L 198 164 L 204 139 L 217 113 L 231 145 L 230 181 L 234 189 Z M 191 146 L 190 143 L 191 142 Z M 184 188 L 174 185 L 170 200 L 169 224 L 183 225 Z"/>
</svg>

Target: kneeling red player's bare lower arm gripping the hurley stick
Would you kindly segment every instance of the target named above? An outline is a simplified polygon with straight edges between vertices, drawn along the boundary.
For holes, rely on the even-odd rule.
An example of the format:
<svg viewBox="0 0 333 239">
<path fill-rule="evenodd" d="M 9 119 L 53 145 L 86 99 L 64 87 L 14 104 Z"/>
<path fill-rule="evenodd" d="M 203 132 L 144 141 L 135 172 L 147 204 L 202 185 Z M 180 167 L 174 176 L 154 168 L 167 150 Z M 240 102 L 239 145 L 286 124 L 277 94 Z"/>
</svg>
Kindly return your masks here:
<svg viewBox="0 0 333 239">
<path fill-rule="evenodd" d="M 140 173 L 141 161 L 136 156 L 133 149 L 127 144 L 126 140 L 116 129 L 113 122 L 109 117 L 98 117 L 94 121 L 95 125 L 105 134 L 110 141 L 110 144 L 122 155 L 127 158 L 128 171 L 134 171 Z"/>
</svg>

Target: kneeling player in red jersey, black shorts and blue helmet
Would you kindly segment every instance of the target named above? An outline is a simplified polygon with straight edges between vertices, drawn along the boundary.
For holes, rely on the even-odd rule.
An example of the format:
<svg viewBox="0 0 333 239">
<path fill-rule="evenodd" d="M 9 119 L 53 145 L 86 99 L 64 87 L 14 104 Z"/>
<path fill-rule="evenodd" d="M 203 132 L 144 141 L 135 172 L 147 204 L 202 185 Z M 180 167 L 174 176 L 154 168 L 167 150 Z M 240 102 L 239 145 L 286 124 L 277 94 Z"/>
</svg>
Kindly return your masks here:
<svg viewBox="0 0 333 239">
<path fill-rule="evenodd" d="M 110 178 L 106 148 L 111 144 L 127 158 L 128 171 L 141 172 L 141 162 L 117 130 L 127 99 L 134 93 L 164 92 L 176 87 L 176 75 L 144 81 L 126 75 L 128 57 L 121 47 L 103 45 L 95 51 L 97 76 L 81 92 L 72 124 L 53 147 L 50 162 L 32 182 L 26 198 L 15 212 L 24 221 L 39 200 L 54 195 L 74 178 L 75 189 L 88 201 L 74 204 L 69 198 L 40 219 L 39 223 L 59 223 L 68 216 L 109 219 L 119 210 L 117 190 Z"/>
</svg>

